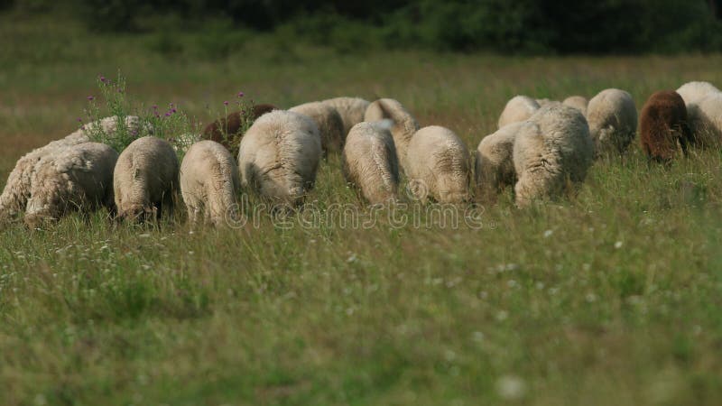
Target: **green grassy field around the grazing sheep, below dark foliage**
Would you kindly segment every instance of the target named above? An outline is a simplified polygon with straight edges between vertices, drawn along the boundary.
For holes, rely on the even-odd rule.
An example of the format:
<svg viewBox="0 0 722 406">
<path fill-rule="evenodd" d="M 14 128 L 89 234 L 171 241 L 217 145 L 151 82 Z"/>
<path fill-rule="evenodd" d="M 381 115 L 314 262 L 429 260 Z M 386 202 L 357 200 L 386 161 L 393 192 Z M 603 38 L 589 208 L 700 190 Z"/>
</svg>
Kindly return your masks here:
<svg viewBox="0 0 722 406">
<path fill-rule="evenodd" d="M 624 88 L 641 107 L 691 79 L 722 85 L 720 56 L 339 55 L 261 38 L 218 60 L 9 17 L 0 36 L 0 185 L 25 152 L 76 129 L 97 75 L 118 69 L 146 105 L 199 122 L 240 90 L 277 106 L 394 97 L 470 149 L 516 94 Z M 424 215 L 302 226 L 303 213 L 194 232 L 180 215 L 11 226 L 0 403 L 722 404 L 720 162 L 694 151 L 648 166 L 635 144 L 597 161 L 577 198 L 522 211 L 507 190 L 481 227 Z M 310 201 L 367 213 L 336 157 Z"/>
</svg>

